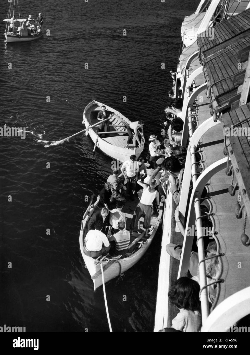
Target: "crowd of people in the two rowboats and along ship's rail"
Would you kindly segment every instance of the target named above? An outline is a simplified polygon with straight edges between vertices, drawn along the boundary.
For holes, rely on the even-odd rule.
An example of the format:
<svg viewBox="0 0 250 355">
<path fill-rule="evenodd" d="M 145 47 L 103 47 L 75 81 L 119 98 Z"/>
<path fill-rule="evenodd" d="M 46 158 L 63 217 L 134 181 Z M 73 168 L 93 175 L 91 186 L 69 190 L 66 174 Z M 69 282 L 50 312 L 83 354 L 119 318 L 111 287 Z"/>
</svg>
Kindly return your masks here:
<svg viewBox="0 0 250 355">
<path fill-rule="evenodd" d="M 171 71 L 173 84 L 176 81 L 176 73 Z M 174 88 L 174 87 L 173 87 Z M 165 108 L 166 118 L 162 124 L 163 134 L 158 137 L 156 134 L 149 136 L 149 154 L 146 158 L 137 159 L 131 155 L 130 159 L 123 163 L 121 172 L 124 176 L 119 179 L 119 170 L 113 170 L 112 175 L 107 178 L 103 189 L 100 192 L 100 203 L 102 210 L 96 212 L 89 223 L 89 231 L 85 239 L 86 255 L 98 257 L 106 255 L 123 255 L 129 251 L 130 235 L 137 229 L 138 221 L 144 218 L 143 228 L 145 236 L 148 236 L 152 213 L 157 213 L 162 196 L 165 195 L 166 182 L 170 186 L 170 193 L 177 205 L 175 220 L 180 233 L 184 236 L 185 225 L 180 221 L 179 202 L 180 193 L 183 185 L 183 175 L 187 155 L 187 146 L 182 146 L 182 132 L 184 122 L 182 120 L 181 91 L 178 97 L 174 97 L 174 92 L 168 91 L 170 102 Z M 105 107 L 102 107 L 100 120 L 106 118 Z M 141 144 L 143 137 L 143 121 L 132 122 L 129 126 L 127 147 L 135 138 L 138 145 Z M 104 131 L 102 127 L 102 131 Z M 199 168 L 198 168 L 199 169 Z M 192 183 L 189 182 L 189 192 Z M 142 188 L 142 189 L 141 189 Z M 134 201 L 139 197 L 140 202 L 135 208 L 132 223 L 129 230 L 126 229 L 125 215 L 122 212 L 123 206 L 128 200 Z M 189 193 L 190 197 L 190 193 Z M 200 206 L 203 214 L 209 214 L 205 204 Z M 209 226 L 209 217 L 203 218 L 204 226 Z M 102 233 L 101 237 L 100 234 Z M 100 239 L 99 239 L 100 238 Z M 94 241 L 94 242 L 93 242 Z M 210 243 L 208 244 L 208 241 Z M 216 279 L 220 266 L 218 258 L 215 257 L 217 245 L 209 237 L 204 238 L 206 247 L 206 274 L 208 287 L 208 298 L 212 306 L 216 296 Z M 196 246 L 195 246 L 196 247 Z M 190 255 L 189 272 L 187 277 L 179 278 L 169 291 L 170 302 L 175 305 L 180 312 L 172 320 L 172 328 L 162 329 L 161 331 L 182 331 L 198 332 L 201 328 L 201 305 L 199 298 L 200 278 L 199 278 L 199 258 L 197 249 L 192 249 Z M 166 251 L 173 258 L 180 260 L 182 246 L 178 244 L 168 244 Z M 130 251 L 131 252 L 131 251 Z"/>
</svg>

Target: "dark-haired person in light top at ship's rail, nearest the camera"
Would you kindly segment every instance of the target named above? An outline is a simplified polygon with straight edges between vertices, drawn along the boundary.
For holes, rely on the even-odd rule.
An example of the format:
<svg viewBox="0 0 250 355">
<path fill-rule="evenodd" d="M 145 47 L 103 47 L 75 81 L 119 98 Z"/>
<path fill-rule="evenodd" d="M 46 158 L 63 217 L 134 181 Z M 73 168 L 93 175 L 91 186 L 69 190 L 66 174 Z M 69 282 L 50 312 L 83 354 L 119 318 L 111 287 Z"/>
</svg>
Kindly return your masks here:
<svg viewBox="0 0 250 355">
<path fill-rule="evenodd" d="M 169 301 L 180 312 L 172 320 L 172 327 L 182 332 L 199 332 L 201 329 L 200 285 L 188 277 L 180 277 L 168 292 Z"/>
</svg>

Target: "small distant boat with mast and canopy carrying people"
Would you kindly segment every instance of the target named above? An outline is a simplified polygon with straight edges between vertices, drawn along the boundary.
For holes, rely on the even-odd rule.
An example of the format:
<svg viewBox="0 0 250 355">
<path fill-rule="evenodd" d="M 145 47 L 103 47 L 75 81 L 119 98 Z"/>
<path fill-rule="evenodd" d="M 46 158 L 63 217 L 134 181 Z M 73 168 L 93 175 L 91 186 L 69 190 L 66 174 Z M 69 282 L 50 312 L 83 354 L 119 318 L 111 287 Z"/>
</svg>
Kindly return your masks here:
<svg viewBox="0 0 250 355">
<path fill-rule="evenodd" d="M 18 18 L 15 18 L 17 13 Z M 7 17 L 4 21 L 6 22 L 4 35 L 7 43 L 29 42 L 38 39 L 43 35 L 41 32 L 41 25 L 43 22 L 41 13 L 39 13 L 36 20 L 32 19 L 32 15 L 29 15 L 28 20 L 22 18 L 20 15 L 18 0 L 11 1 Z"/>
</svg>

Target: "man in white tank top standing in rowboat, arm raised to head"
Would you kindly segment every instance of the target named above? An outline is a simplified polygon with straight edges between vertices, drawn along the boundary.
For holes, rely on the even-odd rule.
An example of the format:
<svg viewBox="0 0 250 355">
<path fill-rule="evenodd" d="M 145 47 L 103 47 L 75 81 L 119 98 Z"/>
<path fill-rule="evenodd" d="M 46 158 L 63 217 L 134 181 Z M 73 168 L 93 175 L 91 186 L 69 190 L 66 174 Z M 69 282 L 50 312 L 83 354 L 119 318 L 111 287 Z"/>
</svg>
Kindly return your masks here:
<svg viewBox="0 0 250 355">
<path fill-rule="evenodd" d="M 141 200 L 135 208 L 130 234 L 137 228 L 139 219 L 143 216 L 143 228 L 145 228 L 145 236 L 148 236 L 148 230 L 151 224 L 151 204 L 156 198 L 156 205 L 159 206 L 159 192 L 155 190 L 156 180 L 152 179 L 149 184 L 145 182 L 137 181 L 137 184 L 143 187 L 143 193 L 141 195 Z"/>
</svg>

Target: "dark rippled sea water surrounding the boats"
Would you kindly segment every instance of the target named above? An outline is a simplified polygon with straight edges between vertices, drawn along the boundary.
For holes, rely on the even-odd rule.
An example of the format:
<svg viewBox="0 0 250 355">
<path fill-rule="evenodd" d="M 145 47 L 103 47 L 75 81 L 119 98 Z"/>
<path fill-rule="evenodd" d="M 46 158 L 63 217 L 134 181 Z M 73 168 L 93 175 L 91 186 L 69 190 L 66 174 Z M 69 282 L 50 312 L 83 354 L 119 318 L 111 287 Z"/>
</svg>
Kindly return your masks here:
<svg viewBox="0 0 250 355">
<path fill-rule="evenodd" d="M 85 196 L 98 195 L 110 174 L 111 159 L 99 151 L 93 154 L 92 142 L 83 135 L 47 149 L 41 141 L 55 141 L 83 129 L 83 109 L 93 99 L 132 121 L 144 120 L 146 137 L 159 134 L 159 118 L 172 87 L 169 70 L 177 62 L 180 25 L 198 3 L 21 2 L 23 17 L 43 13 L 50 37 L 8 45 L 2 37 L 0 44 L 0 126 L 29 131 L 25 140 L 0 138 L 0 326 L 42 332 L 109 331 L 102 289 L 93 293 L 78 237 L 88 206 Z M 7 7 L 5 1 L 1 19 Z M 3 22 L 0 32 L 4 32 Z M 12 69 L 8 69 L 10 62 Z M 89 69 L 84 69 L 86 62 Z M 50 102 L 46 102 L 48 95 Z M 46 169 L 48 162 L 50 169 Z M 160 245 L 159 233 L 122 280 L 106 285 L 113 331 L 152 331 Z"/>
</svg>

